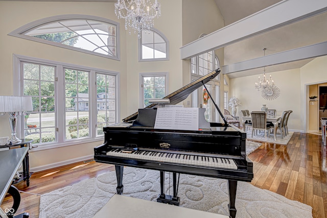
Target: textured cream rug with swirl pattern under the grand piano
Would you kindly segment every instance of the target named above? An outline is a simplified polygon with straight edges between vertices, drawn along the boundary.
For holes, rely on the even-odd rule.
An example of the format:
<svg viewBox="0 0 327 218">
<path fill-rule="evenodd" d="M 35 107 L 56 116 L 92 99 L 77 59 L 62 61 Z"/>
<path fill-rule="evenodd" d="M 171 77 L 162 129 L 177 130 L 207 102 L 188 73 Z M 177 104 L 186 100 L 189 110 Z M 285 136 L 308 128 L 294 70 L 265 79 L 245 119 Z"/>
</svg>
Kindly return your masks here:
<svg viewBox="0 0 327 218">
<path fill-rule="evenodd" d="M 124 195 L 156 201 L 160 193 L 159 177 L 158 171 L 125 168 Z M 170 184 L 169 181 L 170 177 L 166 175 L 166 184 Z M 115 192 L 115 172 L 83 180 L 42 195 L 40 217 L 92 217 Z M 167 194 L 172 195 L 170 190 L 167 190 Z M 229 215 L 227 183 L 224 179 L 181 174 L 178 196 L 181 207 Z M 237 217 L 312 217 L 310 206 L 247 182 L 238 182 L 236 198 Z"/>
</svg>

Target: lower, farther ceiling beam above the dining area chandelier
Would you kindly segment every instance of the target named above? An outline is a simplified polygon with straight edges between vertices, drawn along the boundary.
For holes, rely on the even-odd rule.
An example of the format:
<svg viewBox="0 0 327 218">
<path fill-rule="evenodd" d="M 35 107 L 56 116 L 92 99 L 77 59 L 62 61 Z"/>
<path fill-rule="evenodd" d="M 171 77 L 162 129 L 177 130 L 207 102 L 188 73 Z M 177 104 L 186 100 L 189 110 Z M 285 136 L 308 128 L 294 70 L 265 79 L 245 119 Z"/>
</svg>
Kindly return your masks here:
<svg viewBox="0 0 327 218">
<path fill-rule="evenodd" d="M 295 48 L 288 51 L 274 53 L 272 55 L 255 58 L 236 64 L 225 65 L 222 66 L 222 73 L 235 73 L 276 64 L 284 64 L 309 58 L 317 58 L 325 55 L 327 55 L 327 41 L 305 47 Z"/>
</svg>

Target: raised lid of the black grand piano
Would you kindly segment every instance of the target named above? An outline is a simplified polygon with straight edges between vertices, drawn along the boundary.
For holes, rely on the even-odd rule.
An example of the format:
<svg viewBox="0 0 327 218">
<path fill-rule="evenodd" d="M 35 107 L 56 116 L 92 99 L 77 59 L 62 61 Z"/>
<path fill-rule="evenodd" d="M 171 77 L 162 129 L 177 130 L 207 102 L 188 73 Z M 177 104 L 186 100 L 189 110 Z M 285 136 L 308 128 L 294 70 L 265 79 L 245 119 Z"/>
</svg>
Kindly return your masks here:
<svg viewBox="0 0 327 218">
<path fill-rule="evenodd" d="M 208 81 L 215 78 L 219 73 L 220 73 L 220 69 L 214 70 L 213 72 L 211 72 L 205 76 L 202 76 L 201 78 L 199 78 L 199 79 L 193 81 L 192 83 L 180 88 L 179 90 L 167 95 L 164 98 L 170 99 L 169 104 L 173 104 L 173 105 L 178 104 L 179 102 L 186 99 L 193 91 L 197 90 L 198 88 L 203 86 L 203 84 L 206 84 Z M 157 107 L 157 106 L 158 106 L 158 103 L 153 103 L 145 108 L 152 108 L 152 107 Z M 125 119 L 123 119 L 123 121 L 124 122 L 133 121 L 136 119 L 137 115 L 138 115 L 138 112 L 130 115 L 129 117 L 126 117 Z"/>
</svg>

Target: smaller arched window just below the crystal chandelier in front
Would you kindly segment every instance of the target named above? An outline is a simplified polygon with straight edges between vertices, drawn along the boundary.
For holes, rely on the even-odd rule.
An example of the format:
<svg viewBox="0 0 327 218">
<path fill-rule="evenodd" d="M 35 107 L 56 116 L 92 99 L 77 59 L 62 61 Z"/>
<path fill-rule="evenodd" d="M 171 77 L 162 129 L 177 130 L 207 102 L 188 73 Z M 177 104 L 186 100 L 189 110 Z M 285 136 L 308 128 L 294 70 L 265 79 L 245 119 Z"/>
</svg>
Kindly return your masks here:
<svg viewBox="0 0 327 218">
<path fill-rule="evenodd" d="M 169 60 L 168 39 L 154 28 L 142 31 L 138 40 L 138 61 L 163 61 Z"/>
</svg>

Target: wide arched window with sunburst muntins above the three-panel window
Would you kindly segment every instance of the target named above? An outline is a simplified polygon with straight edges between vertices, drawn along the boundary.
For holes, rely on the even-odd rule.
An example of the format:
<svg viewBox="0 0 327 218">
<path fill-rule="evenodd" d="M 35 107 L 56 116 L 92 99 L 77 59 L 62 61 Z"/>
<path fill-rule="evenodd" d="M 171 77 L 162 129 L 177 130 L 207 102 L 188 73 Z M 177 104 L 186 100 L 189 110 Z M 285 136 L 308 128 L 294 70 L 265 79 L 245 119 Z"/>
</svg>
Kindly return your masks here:
<svg viewBox="0 0 327 218">
<path fill-rule="evenodd" d="M 95 16 L 43 18 L 8 35 L 119 60 L 119 23 Z"/>
</svg>

